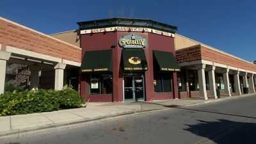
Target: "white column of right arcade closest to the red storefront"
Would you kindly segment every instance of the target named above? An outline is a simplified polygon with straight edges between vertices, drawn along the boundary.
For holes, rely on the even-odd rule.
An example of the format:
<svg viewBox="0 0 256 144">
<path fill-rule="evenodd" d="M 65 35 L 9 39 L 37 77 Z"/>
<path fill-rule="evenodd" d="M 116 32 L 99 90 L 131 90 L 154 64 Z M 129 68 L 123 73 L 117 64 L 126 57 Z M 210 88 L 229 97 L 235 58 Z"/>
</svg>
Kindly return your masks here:
<svg viewBox="0 0 256 144">
<path fill-rule="evenodd" d="M 200 97 L 204 97 L 205 100 L 208 100 L 207 92 L 206 92 L 206 85 L 205 85 L 205 64 L 200 65 L 197 72 L 198 72 Z"/>
</svg>

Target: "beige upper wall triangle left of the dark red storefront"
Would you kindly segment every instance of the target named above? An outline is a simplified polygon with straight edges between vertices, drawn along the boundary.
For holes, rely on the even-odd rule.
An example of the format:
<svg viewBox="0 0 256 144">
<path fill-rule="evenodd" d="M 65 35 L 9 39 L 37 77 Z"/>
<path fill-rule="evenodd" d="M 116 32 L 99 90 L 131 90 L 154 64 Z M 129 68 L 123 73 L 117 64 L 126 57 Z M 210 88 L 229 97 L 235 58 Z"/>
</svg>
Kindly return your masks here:
<svg viewBox="0 0 256 144">
<path fill-rule="evenodd" d="M 62 40 L 64 42 L 67 42 L 69 44 L 76 45 L 77 47 L 80 47 L 79 35 L 76 30 L 64 31 L 61 33 L 52 34 L 51 36 L 54 38 L 58 38 L 59 40 Z"/>
</svg>

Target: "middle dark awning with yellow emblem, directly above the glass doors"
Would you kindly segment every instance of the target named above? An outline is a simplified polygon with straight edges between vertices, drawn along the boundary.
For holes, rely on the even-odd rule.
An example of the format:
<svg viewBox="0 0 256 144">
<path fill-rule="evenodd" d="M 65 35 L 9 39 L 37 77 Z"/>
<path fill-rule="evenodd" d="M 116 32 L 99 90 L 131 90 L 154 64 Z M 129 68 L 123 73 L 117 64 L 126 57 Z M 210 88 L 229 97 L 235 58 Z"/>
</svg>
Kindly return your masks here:
<svg viewBox="0 0 256 144">
<path fill-rule="evenodd" d="M 143 49 L 123 49 L 122 57 L 125 71 L 148 70 L 147 60 Z"/>
</svg>

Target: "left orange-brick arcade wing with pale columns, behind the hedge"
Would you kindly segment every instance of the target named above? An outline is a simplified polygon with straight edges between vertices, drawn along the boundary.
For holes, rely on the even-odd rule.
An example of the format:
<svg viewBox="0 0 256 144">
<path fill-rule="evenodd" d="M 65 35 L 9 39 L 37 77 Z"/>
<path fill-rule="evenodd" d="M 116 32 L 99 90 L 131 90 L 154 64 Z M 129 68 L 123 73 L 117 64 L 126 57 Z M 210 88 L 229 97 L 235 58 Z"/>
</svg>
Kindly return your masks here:
<svg viewBox="0 0 256 144">
<path fill-rule="evenodd" d="M 0 17 L 0 93 L 12 64 L 28 67 L 30 88 L 61 90 L 79 70 L 81 48 Z"/>
</svg>

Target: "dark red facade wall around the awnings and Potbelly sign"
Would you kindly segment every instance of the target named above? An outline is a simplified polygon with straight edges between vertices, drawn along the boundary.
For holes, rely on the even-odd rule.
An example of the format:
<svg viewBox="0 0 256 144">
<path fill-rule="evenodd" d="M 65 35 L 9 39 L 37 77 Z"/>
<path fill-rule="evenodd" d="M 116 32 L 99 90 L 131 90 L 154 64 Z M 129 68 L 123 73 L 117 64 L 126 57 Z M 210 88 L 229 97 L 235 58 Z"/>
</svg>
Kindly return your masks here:
<svg viewBox="0 0 256 144">
<path fill-rule="evenodd" d="M 161 36 L 152 33 L 140 32 L 107 32 L 94 33 L 92 35 L 81 35 L 81 47 L 83 49 L 82 56 L 86 51 L 99 51 L 105 49 L 112 49 L 113 51 L 113 95 L 90 95 L 88 92 L 88 79 L 86 74 L 81 75 L 81 95 L 85 99 L 90 99 L 91 102 L 105 102 L 114 101 L 122 102 L 123 98 L 123 74 L 122 67 L 120 67 L 122 47 L 118 45 L 118 41 L 122 36 L 134 33 L 135 35 L 143 36 L 147 39 L 147 46 L 145 47 L 145 56 L 147 58 L 148 70 L 145 72 L 145 87 L 147 100 L 154 99 L 173 99 L 174 95 L 178 97 L 177 89 L 177 74 L 170 72 L 173 77 L 173 92 L 170 93 L 154 93 L 154 72 L 153 72 L 153 51 L 168 51 L 174 52 L 174 38 L 168 36 Z M 111 48 L 116 45 L 115 48 Z M 173 94 L 177 93 L 177 94 Z"/>
</svg>

